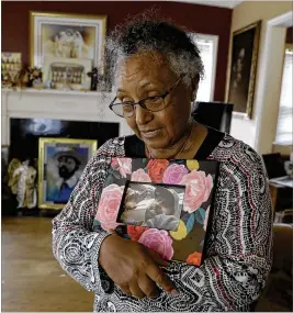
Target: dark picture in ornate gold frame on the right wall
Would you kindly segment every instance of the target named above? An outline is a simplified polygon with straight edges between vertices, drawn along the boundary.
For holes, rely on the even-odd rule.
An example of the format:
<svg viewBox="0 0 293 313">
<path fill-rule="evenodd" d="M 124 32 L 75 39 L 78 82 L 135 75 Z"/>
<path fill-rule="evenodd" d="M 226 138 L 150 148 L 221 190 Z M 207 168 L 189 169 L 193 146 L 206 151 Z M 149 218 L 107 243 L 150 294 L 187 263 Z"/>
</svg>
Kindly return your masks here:
<svg viewBox="0 0 293 313">
<path fill-rule="evenodd" d="M 233 33 L 230 77 L 226 102 L 234 115 L 251 119 L 261 21 Z"/>
</svg>

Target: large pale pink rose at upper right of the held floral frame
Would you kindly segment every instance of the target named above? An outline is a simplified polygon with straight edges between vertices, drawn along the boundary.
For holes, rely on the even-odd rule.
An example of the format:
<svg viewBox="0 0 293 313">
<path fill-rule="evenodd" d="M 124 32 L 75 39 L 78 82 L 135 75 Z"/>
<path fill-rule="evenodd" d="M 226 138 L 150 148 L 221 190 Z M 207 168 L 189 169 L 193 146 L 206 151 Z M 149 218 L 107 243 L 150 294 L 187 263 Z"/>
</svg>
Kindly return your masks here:
<svg viewBox="0 0 293 313">
<path fill-rule="evenodd" d="M 202 170 L 192 170 L 187 174 L 179 185 L 185 185 L 184 208 L 183 210 L 192 213 L 198 210 L 203 202 L 207 201 L 213 188 L 213 178 Z"/>
</svg>

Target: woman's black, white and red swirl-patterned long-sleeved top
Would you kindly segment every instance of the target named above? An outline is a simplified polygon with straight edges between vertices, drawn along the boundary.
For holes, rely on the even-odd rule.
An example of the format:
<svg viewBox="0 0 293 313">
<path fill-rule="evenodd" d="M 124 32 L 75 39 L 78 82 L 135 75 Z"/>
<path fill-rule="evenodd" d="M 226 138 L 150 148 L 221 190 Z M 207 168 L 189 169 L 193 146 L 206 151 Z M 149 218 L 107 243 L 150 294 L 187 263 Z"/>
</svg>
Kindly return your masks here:
<svg viewBox="0 0 293 313">
<path fill-rule="evenodd" d="M 94 233 L 92 226 L 111 156 L 125 156 L 125 137 L 99 148 L 53 220 L 54 255 L 68 275 L 95 293 L 94 312 L 250 311 L 272 262 L 271 200 L 260 156 L 223 134 L 207 156 L 221 163 L 207 258 L 200 268 L 170 262 L 165 273 L 180 294 L 160 290 L 157 299 L 142 300 L 124 294 L 98 262 L 108 234 L 102 228 Z"/>
</svg>

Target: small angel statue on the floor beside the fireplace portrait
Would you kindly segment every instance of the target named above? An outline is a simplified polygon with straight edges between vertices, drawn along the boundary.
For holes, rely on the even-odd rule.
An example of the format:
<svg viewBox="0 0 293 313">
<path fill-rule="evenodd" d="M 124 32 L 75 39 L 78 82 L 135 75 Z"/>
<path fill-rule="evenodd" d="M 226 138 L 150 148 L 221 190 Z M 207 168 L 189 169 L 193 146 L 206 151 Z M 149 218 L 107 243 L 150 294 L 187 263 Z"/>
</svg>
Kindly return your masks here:
<svg viewBox="0 0 293 313">
<path fill-rule="evenodd" d="M 21 163 L 13 158 L 8 167 L 9 187 L 16 194 L 18 209 L 36 206 L 36 170 L 30 166 L 30 160 Z"/>
</svg>

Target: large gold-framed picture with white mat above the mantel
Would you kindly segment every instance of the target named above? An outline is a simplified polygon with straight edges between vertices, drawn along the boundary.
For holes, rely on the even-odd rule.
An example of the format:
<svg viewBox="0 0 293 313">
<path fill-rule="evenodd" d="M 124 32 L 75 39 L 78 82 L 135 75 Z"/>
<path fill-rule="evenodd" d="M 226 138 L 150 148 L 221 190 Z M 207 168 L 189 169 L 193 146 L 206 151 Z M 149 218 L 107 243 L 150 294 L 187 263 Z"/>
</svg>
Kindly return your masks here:
<svg viewBox="0 0 293 313">
<path fill-rule="evenodd" d="M 43 67 L 44 58 L 88 58 L 102 70 L 106 32 L 105 15 L 30 12 L 31 65 Z"/>
</svg>

